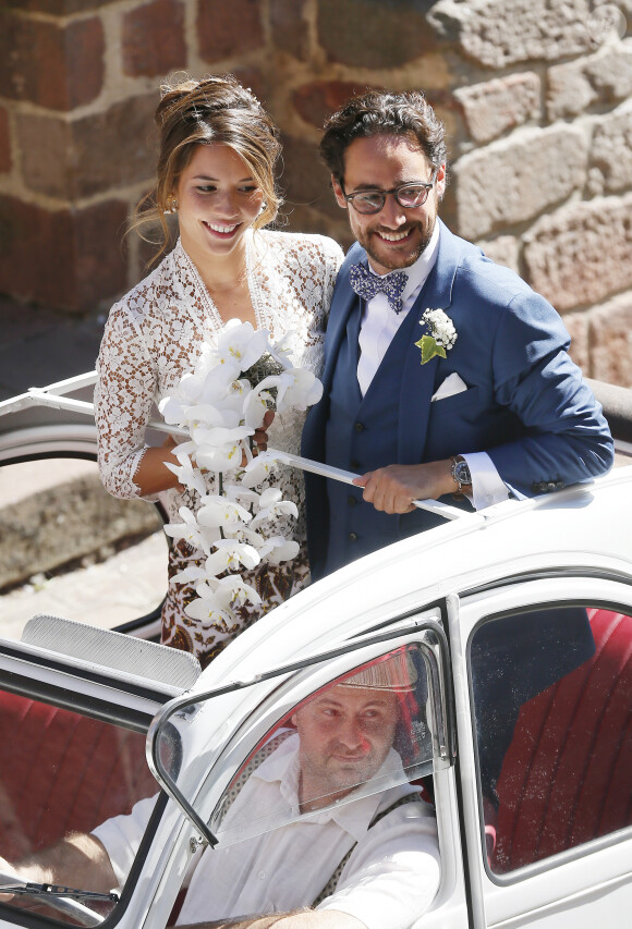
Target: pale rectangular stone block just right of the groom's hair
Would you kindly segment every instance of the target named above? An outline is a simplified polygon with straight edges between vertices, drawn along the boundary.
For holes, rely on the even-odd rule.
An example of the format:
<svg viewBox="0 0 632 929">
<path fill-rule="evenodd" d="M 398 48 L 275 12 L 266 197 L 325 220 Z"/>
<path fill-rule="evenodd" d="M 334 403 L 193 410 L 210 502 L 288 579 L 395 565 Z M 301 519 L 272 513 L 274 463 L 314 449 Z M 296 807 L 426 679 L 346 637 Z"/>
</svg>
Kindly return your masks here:
<svg viewBox="0 0 632 929">
<path fill-rule="evenodd" d="M 539 77 L 532 71 L 459 87 L 454 97 L 463 107 L 471 137 L 478 143 L 498 138 L 540 114 Z"/>
</svg>

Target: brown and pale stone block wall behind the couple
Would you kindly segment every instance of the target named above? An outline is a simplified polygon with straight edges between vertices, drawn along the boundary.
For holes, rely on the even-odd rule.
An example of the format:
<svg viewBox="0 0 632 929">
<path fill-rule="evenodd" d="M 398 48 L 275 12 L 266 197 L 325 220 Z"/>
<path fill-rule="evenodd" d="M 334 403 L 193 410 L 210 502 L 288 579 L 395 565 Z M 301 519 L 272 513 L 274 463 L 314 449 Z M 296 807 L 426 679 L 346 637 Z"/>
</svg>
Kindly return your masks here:
<svg viewBox="0 0 632 929">
<path fill-rule="evenodd" d="M 344 244 L 325 115 L 423 88 L 449 225 L 558 307 L 587 375 L 632 386 L 632 0 L 4 0 L 0 292 L 81 314 L 139 279 L 122 230 L 181 70 L 255 90 L 283 134 L 287 227 Z"/>
</svg>

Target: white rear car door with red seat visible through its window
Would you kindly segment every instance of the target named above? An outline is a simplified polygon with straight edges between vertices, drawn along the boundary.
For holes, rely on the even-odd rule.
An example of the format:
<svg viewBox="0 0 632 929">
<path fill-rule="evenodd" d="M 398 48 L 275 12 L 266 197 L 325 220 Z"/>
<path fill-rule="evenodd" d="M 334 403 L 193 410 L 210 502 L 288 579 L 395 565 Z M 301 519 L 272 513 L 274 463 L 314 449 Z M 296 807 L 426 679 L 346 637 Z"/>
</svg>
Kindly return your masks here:
<svg viewBox="0 0 632 929">
<path fill-rule="evenodd" d="M 613 570 L 569 574 L 449 598 L 467 858 L 488 927 L 629 924 L 632 590 Z"/>
</svg>

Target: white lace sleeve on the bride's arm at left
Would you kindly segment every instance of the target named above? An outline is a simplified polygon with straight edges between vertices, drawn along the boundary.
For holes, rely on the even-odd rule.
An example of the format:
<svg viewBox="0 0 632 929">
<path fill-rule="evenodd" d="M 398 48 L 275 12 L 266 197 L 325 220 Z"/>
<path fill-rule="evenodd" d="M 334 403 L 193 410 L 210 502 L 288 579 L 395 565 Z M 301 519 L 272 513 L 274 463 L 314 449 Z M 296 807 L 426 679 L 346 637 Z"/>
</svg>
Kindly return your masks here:
<svg viewBox="0 0 632 929">
<path fill-rule="evenodd" d="M 138 325 L 124 304 L 110 310 L 95 388 L 99 472 L 113 497 L 139 497 L 134 474 L 145 448 L 157 369 Z"/>
</svg>

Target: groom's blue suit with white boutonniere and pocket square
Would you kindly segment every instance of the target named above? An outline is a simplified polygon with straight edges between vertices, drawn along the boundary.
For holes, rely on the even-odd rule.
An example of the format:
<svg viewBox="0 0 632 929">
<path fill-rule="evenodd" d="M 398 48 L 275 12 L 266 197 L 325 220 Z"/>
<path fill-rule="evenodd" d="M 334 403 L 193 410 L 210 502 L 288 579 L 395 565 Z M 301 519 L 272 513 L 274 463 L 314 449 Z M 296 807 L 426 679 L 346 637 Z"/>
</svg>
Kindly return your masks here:
<svg viewBox="0 0 632 929">
<path fill-rule="evenodd" d="M 587 480 L 611 466 L 607 423 L 567 354 L 570 339 L 556 310 L 443 223 L 435 267 L 363 400 L 355 372 L 361 306 L 349 284 L 349 267 L 356 261 L 366 261 L 357 244 L 338 277 L 325 343 L 324 395 L 307 416 L 304 455 L 325 461 L 328 444 L 329 463 L 362 474 L 387 464 L 485 451 L 518 497 Z M 422 365 L 414 343 L 427 332 L 418 325 L 427 307 L 448 314 L 457 342 L 447 358 Z M 432 401 L 454 371 L 467 390 Z M 343 396 L 345 412 L 339 415 Z M 403 516 L 377 513 L 362 501 L 361 489 L 335 481 L 328 487 L 311 474 L 305 478 L 315 578 L 441 522 L 421 510 Z M 449 497 L 447 502 L 454 501 Z"/>
</svg>

